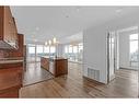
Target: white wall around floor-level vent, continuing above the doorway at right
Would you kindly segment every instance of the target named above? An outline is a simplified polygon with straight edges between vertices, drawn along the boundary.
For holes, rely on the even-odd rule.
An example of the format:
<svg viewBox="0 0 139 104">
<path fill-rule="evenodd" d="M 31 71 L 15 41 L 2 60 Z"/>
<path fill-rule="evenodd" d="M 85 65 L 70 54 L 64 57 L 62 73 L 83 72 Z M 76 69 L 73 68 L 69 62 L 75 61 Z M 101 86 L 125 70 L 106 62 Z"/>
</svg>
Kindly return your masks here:
<svg viewBox="0 0 139 104">
<path fill-rule="evenodd" d="M 83 76 L 89 77 L 88 68 L 100 70 L 99 81 L 107 83 L 106 34 L 139 24 L 139 13 L 117 18 L 83 32 Z M 92 77 L 93 78 L 93 77 Z"/>
</svg>

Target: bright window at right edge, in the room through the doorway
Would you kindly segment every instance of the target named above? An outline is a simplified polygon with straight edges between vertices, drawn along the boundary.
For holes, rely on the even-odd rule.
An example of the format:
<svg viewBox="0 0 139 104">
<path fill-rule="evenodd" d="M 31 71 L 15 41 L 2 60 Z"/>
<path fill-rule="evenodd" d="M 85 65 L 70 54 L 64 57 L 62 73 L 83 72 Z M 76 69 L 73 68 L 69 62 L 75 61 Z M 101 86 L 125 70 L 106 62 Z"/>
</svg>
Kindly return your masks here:
<svg viewBox="0 0 139 104">
<path fill-rule="evenodd" d="M 130 41 L 130 66 L 138 67 L 139 55 L 138 55 L 138 34 L 129 35 Z"/>
</svg>

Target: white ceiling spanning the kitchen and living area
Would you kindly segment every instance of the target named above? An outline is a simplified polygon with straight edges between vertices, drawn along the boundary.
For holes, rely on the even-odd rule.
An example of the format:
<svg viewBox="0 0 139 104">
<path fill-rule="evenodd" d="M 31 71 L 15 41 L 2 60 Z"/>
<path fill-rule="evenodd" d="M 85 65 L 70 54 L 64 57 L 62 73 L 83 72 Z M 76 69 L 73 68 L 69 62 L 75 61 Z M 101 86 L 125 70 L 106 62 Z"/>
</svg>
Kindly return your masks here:
<svg viewBox="0 0 139 104">
<path fill-rule="evenodd" d="M 43 43 L 53 37 L 57 37 L 60 43 L 79 39 L 80 33 L 91 25 L 95 26 L 139 11 L 137 7 L 11 7 L 11 9 L 18 31 L 25 35 L 26 42 Z M 76 36 L 71 36 L 74 34 Z M 80 35 L 79 38 L 77 34 Z"/>
</svg>

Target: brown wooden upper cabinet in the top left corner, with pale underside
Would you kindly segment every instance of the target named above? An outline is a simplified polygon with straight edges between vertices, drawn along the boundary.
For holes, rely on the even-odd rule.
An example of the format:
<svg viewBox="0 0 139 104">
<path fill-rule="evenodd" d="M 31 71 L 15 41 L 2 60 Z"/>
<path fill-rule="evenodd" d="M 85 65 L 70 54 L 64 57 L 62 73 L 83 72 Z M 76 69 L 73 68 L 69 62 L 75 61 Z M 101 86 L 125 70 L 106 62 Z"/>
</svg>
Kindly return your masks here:
<svg viewBox="0 0 139 104">
<path fill-rule="evenodd" d="M 10 7 L 0 7 L 0 49 L 18 49 L 18 30 Z"/>
</svg>

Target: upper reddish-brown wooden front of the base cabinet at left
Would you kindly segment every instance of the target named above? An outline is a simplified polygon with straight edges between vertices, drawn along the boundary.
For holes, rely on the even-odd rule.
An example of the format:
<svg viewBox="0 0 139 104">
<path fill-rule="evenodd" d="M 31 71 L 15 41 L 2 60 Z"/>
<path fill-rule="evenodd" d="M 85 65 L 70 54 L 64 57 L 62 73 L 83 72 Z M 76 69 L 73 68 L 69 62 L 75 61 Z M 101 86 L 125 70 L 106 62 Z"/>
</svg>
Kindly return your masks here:
<svg viewBox="0 0 139 104">
<path fill-rule="evenodd" d="M 0 70 L 0 90 L 22 86 L 22 67 Z"/>
</svg>

